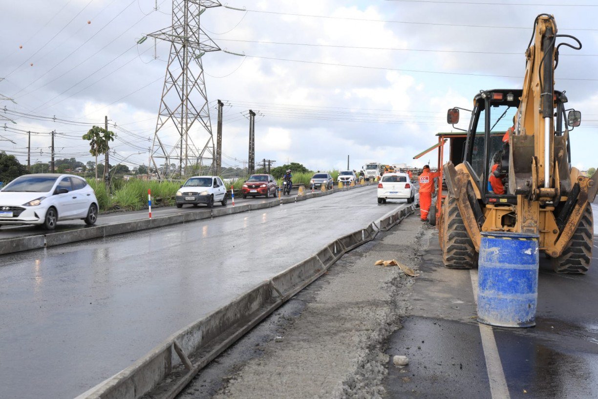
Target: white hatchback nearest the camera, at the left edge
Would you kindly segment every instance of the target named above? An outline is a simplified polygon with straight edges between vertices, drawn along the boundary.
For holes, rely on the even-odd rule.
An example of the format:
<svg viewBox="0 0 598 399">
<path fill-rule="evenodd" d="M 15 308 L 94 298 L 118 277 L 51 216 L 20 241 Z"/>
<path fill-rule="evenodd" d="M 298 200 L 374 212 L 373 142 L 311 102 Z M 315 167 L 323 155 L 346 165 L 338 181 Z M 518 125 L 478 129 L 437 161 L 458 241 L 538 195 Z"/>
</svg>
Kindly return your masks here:
<svg viewBox="0 0 598 399">
<path fill-rule="evenodd" d="M 80 176 L 38 173 L 19 176 L 0 190 L 0 225 L 39 224 L 54 230 L 59 220 L 97 220 L 96 193 Z"/>
</svg>

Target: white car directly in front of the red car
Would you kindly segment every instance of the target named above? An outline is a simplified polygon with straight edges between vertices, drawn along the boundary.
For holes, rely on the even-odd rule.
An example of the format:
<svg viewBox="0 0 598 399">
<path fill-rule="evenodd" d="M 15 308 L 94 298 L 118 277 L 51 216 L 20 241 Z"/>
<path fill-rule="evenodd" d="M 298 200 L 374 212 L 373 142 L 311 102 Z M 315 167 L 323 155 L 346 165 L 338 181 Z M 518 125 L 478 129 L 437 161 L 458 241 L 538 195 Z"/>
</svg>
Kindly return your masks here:
<svg viewBox="0 0 598 399">
<path fill-rule="evenodd" d="M 197 206 L 205 203 L 208 208 L 220 202 L 226 206 L 227 194 L 224 182 L 218 176 L 193 176 L 176 191 L 176 208 L 182 208 L 186 203 Z"/>
</svg>

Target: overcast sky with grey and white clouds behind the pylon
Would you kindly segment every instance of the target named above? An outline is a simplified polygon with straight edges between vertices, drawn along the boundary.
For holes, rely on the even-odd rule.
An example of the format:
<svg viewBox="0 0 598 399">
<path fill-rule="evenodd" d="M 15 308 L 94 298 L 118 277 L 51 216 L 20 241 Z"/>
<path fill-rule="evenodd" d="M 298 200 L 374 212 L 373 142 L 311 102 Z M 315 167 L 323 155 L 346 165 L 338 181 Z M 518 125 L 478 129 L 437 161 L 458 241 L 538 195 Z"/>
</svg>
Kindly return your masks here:
<svg viewBox="0 0 598 399">
<path fill-rule="evenodd" d="M 561 47 L 556 89 L 582 112 L 582 126 L 571 134 L 573 165 L 598 166 L 596 1 L 226 4 L 246 11 L 210 8 L 201 17 L 220 48 L 246 54 L 202 58 L 214 138 L 216 100 L 226 104 L 223 166 L 248 159 L 250 108 L 258 112 L 256 160 L 313 170 L 344 169 L 347 155 L 351 169 L 370 161 L 433 161 L 413 156 L 434 144 L 436 133 L 450 131 L 447 108 L 471 108 L 480 89 L 521 87 L 539 13 L 553 14 L 559 33 L 583 44 L 581 51 Z M 12 120 L 1 121 L 0 148 L 26 163 L 26 132 L 36 132 L 32 163 L 47 162 L 47 133 L 56 130 L 56 157 L 87 162 L 81 135 L 108 115 L 118 135 L 112 165 L 147 165 L 170 44 L 158 41 L 154 53 L 153 39 L 136 41 L 170 26 L 171 11 L 171 0 L 27 0 L 3 7 L 0 93 L 16 103 L 0 104 L 8 110 L 0 115 Z M 164 131 L 161 139 L 172 146 L 176 135 Z M 206 142 L 199 125 L 193 140 Z"/>
</svg>

